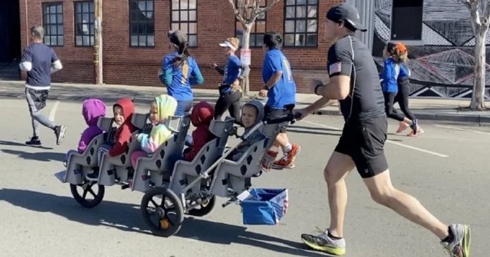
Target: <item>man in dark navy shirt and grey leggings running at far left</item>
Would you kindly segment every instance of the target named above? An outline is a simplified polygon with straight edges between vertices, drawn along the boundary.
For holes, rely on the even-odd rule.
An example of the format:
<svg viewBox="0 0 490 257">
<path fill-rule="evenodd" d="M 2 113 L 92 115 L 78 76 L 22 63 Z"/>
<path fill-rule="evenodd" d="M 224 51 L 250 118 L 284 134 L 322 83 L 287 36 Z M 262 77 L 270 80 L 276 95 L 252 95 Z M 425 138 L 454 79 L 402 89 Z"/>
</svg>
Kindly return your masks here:
<svg viewBox="0 0 490 257">
<path fill-rule="evenodd" d="M 29 104 L 29 112 L 32 120 L 32 137 L 25 144 L 40 146 L 39 124 L 49 127 L 56 135 L 56 144 L 61 144 L 65 137 L 65 126 L 55 125 L 49 118 L 41 114 L 46 106 L 49 87 L 51 86 L 51 73 L 61 70 L 61 62 L 51 47 L 42 43 L 44 29 L 42 26 L 30 28 L 32 44 L 24 49 L 20 69 L 27 71 L 25 82 L 25 99 Z"/>
</svg>

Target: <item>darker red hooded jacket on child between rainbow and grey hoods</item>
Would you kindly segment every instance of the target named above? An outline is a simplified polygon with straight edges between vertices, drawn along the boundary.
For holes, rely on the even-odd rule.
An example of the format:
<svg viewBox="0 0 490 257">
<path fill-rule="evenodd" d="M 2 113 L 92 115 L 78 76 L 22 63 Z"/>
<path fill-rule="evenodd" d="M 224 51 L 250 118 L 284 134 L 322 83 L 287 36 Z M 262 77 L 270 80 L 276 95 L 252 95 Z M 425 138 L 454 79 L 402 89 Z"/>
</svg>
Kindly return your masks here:
<svg viewBox="0 0 490 257">
<path fill-rule="evenodd" d="M 192 132 L 191 150 L 184 153 L 185 161 L 192 161 L 199 153 L 199 150 L 215 138 L 214 134 L 209 131 L 209 125 L 213 117 L 214 108 L 205 101 L 199 102 L 192 108 L 191 123 L 196 127 L 196 130 Z"/>
</svg>

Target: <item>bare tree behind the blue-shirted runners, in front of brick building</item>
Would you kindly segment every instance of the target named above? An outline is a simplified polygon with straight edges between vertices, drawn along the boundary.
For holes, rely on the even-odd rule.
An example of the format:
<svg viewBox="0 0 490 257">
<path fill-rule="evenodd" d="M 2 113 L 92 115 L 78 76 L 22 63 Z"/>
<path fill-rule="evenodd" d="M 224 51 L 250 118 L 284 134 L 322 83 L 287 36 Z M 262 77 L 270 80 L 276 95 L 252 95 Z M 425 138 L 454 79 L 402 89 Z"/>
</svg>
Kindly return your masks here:
<svg viewBox="0 0 490 257">
<path fill-rule="evenodd" d="M 233 12 L 237 20 L 244 27 L 244 34 L 241 39 L 242 49 L 250 49 L 250 32 L 253 25 L 256 22 L 256 18 L 262 13 L 268 11 L 272 6 L 277 4 L 279 0 L 267 0 L 267 5 L 265 7 L 260 7 L 260 2 L 265 0 L 228 0 L 233 8 Z M 249 94 L 249 78 L 246 77 L 244 82 L 241 84 L 244 89 L 244 93 Z"/>
</svg>

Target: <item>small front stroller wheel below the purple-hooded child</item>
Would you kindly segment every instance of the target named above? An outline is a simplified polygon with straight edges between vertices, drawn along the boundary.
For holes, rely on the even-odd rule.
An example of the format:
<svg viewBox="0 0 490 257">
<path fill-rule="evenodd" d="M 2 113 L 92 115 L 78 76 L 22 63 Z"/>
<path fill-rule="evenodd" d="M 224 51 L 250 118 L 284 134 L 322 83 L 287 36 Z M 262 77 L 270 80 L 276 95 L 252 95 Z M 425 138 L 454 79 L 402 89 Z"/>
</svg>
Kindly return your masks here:
<svg viewBox="0 0 490 257">
<path fill-rule="evenodd" d="M 81 206 L 93 208 L 101 203 L 105 188 L 95 182 L 85 182 L 85 184 L 70 184 L 70 191 Z"/>
</svg>

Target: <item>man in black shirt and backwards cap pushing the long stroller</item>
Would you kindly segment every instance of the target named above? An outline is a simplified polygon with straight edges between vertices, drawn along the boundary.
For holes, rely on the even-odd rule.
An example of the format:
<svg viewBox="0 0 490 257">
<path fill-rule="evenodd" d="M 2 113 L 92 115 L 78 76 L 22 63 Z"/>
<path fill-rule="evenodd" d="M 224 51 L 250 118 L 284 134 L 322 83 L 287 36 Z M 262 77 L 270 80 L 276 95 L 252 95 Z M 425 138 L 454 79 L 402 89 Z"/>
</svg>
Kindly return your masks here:
<svg viewBox="0 0 490 257">
<path fill-rule="evenodd" d="M 449 256 L 470 256 L 470 227 L 445 225 L 427 211 L 417 199 L 395 189 L 391 184 L 384 142 L 387 139 L 387 115 L 375 62 L 368 48 L 354 32 L 366 29 L 359 22 L 354 6 L 340 4 L 327 12 L 325 39 L 332 44 L 328 53 L 329 83 L 312 83 L 311 89 L 321 99 L 296 110 L 301 118 L 339 99 L 346 119 L 339 143 L 324 171 L 328 187 L 330 226 L 319 235 L 301 234 L 311 248 L 344 255 L 344 216 L 347 204 L 345 177 L 357 168 L 372 199 L 391 208 L 404 218 L 425 227 L 441 239 Z"/>
</svg>

